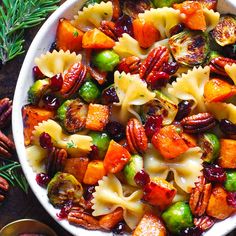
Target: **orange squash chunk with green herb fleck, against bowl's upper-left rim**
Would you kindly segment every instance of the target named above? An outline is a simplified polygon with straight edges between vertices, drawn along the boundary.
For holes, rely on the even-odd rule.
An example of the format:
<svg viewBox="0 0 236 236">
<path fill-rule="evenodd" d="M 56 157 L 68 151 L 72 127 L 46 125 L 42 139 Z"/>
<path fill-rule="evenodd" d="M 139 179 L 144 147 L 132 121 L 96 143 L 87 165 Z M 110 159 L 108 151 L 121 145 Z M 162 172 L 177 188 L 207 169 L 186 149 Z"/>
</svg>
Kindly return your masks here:
<svg viewBox="0 0 236 236">
<path fill-rule="evenodd" d="M 84 33 L 75 28 L 69 20 L 60 19 L 56 33 L 56 45 L 63 51 L 79 52 L 82 49 Z"/>
</svg>

